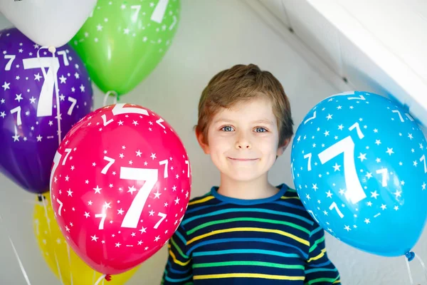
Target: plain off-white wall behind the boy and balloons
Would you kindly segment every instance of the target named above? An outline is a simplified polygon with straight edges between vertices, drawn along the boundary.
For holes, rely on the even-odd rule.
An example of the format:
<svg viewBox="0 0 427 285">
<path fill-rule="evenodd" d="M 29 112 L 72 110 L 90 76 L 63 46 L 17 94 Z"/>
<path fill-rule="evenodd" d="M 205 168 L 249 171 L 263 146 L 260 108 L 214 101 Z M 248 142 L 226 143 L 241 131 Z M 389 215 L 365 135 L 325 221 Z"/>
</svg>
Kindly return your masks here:
<svg viewBox="0 0 427 285">
<path fill-rule="evenodd" d="M 221 18 L 220 18 L 221 16 Z M 8 23 L 0 17 L 0 28 Z M 256 63 L 271 71 L 283 83 L 292 105 L 295 130 L 308 110 L 322 98 L 341 90 L 324 78 L 300 56 L 299 43 L 283 41 L 243 1 L 183 0 L 181 23 L 176 38 L 162 63 L 123 102 L 136 103 L 154 110 L 172 123 L 189 151 L 193 169 L 191 197 L 218 185 L 218 173 L 208 156 L 199 149 L 193 125 L 201 90 L 215 73 L 236 63 Z M 307 56 L 307 54 L 305 54 Z M 95 107 L 102 105 L 102 94 L 96 91 Z M 290 176 L 288 150 L 270 172 L 273 184 L 286 182 Z M 214 173 L 214 175 L 213 175 Z M 0 284 L 26 284 L 9 244 L 5 227 L 23 261 L 31 284 L 60 284 L 41 257 L 33 236 L 31 201 L 24 192 L 0 175 Z M 427 237 L 422 238 L 423 241 Z M 420 242 L 420 244 L 422 244 Z M 404 259 L 384 259 L 364 254 L 327 236 L 330 258 L 342 274 L 343 284 L 407 284 Z M 425 253 L 426 247 L 419 246 Z M 129 284 L 159 284 L 167 259 L 166 247 L 146 261 Z M 421 276 L 419 269 L 414 273 Z"/>
</svg>

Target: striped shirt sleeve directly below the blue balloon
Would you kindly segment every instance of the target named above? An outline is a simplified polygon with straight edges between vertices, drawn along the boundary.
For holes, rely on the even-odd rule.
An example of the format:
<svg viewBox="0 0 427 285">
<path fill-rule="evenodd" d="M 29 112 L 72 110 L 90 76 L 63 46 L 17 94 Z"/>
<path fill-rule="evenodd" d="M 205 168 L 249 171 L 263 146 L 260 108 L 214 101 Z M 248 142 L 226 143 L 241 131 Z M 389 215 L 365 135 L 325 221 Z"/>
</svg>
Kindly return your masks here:
<svg viewBox="0 0 427 285">
<path fill-rule="evenodd" d="M 310 249 L 305 263 L 305 285 L 341 284 L 338 269 L 327 257 L 325 231 L 315 223 L 310 232 Z"/>
</svg>

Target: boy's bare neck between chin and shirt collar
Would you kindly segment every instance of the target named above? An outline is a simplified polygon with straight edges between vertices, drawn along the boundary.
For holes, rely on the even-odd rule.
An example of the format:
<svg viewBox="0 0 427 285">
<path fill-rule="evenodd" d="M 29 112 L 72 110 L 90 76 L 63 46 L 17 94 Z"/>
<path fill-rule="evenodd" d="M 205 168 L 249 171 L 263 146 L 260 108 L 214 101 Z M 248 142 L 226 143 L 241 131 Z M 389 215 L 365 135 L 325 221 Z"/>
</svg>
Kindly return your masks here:
<svg viewBox="0 0 427 285">
<path fill-rule="evenodd" d="M 278 192 L 279 189 L 268 182 L 267 175 L 241 182 L 221 174 L 221 185 L 218 188 L 218 194 L 236 199 L 264 199 Z"/>
</svg>

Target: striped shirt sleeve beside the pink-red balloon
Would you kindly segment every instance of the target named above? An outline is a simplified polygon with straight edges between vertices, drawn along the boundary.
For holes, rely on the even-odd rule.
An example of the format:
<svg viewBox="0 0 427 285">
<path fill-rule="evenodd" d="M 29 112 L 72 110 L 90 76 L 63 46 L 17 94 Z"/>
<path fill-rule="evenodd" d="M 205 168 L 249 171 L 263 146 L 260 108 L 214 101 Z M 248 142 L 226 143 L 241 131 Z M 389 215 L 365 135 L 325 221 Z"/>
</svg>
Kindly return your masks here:
<svg viewBox="0 0 427 285">
<path fill-rule="evenodd" d="M 186 231 L 182 225 L 169 239 L 169 257 L 162 277 L 163 285 L 193 284 L 191 257 L 186 256 Z"/>
</svg>

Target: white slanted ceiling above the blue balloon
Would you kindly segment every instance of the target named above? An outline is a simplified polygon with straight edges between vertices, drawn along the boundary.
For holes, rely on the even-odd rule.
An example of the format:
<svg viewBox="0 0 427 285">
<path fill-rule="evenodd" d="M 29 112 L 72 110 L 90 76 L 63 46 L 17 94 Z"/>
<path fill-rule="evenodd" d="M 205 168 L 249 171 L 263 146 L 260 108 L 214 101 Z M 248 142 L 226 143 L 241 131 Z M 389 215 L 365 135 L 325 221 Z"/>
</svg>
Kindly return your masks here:
<svg viewBox="0 0 427 285">
<path fill-rule="evenodd" d="M 391 96 L 427 125 L 427 1 L 246 0 L 350 89 Z M 271 19 L 266 19 L 271 21 Z M 321 72 L 325 71 L 321 66 Z M 344 91 L 344 90 L 343 90 Z"/>
</svg>

